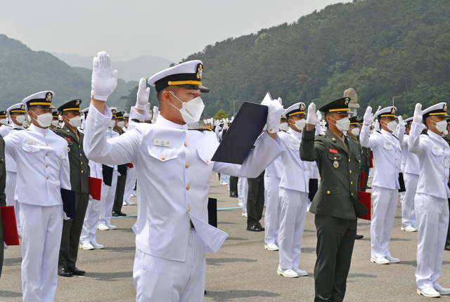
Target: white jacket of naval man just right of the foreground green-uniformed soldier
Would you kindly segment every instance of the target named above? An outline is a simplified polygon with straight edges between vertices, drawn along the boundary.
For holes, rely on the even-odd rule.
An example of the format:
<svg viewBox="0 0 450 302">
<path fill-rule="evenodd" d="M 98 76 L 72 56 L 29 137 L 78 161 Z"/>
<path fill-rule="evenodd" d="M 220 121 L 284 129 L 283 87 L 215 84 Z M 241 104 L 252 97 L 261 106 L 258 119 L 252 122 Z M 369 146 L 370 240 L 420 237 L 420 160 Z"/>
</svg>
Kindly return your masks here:
<svg viewBox="0 0 450 302">
<path fill-rule="evenodd" d="M 363 147 L 370 147 L 375 165 L 375 176 L 372 185 L 390 190 L 399 189 L 399 173 L 401 172 L 401 143 L 403 143 L 404 133 L 399 133 L 399 138 L 394 138 L 392 133 L 381 130 L 375 131 L 369 137 L 370 127 L 364 124 L 359 136 Z"/>
</svg>

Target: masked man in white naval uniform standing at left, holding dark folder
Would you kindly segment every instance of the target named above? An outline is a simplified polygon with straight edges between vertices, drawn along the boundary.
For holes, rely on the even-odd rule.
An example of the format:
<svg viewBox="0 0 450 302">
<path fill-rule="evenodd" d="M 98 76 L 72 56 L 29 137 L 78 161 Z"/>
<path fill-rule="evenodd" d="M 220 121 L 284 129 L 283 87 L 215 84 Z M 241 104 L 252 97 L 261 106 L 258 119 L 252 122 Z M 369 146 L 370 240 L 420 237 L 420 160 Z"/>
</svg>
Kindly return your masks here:
<svg viewBox="0 0 450 302">
<path fill-rule="evenodd" d="M 61 189 L 70 190 L 68 142 L 49 129 L 53 91 L 25 98 L 30 128 L 11 131 L 5 152 L 17 164 L 23 301 L 53 301 L 63 230 Z"/>
</svg>

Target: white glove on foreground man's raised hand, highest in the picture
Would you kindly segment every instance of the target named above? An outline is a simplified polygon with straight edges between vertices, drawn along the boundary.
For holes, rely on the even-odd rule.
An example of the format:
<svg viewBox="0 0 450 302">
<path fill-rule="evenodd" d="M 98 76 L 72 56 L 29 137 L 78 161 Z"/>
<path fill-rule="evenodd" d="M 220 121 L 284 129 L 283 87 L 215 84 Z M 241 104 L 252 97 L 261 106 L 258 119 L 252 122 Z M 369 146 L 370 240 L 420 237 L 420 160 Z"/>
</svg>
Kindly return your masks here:
<svg viewBox="0 0 450 302">
<path fill-rule="evenodd" d="M 117 70 L 112 71 L 111 58 L 102 51 L 94 57 L 91 80 L 91 97 L 96 100 L 108 100 L 117 86 Z"/>
</svg>

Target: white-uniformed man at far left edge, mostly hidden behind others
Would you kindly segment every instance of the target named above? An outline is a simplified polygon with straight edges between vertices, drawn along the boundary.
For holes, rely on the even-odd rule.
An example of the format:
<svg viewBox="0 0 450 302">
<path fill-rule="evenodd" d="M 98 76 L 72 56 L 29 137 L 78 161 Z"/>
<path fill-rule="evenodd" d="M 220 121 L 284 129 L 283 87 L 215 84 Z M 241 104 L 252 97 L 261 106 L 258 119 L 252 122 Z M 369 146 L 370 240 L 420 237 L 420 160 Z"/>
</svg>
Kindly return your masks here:
<svg viewBox="0 0 450 302">
<path fill-rule="evenodd" d="M 0 136 L 6 137 L 13 129 L 24 130 L 27 123 L 25 122 L 25 114 L 27 114 L 26 107 L 23 103 L 17 103 L 9 107 L 6 111 L 9 113 L 9 125 L 3 125 L 0 127 Z M 19 238 L 22 238 L 22 229 L 20 228 L 19 207 L 17 202 L 17 193 L 15 192 L 15 186 L 17 184 L 17 166 L 15 165 L 13 157 L 11 155 L 5 155 L 6 164 L 6 205 L 14 206 L 15 211 L 15 223 L 17 224 L 17 230 Z"/>
</svg>

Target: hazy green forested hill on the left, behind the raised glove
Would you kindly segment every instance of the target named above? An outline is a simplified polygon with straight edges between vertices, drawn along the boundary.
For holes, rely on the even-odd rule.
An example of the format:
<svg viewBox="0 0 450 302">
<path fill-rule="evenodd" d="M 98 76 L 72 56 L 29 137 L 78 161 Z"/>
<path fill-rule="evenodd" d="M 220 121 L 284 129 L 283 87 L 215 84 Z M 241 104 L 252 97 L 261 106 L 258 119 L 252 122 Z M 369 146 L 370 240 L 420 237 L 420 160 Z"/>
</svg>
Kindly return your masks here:
<svg viewBox="0 0 450 302">
<path fill-rule="evenodd" d="M 15 39 L 0 34 L 0 110 L 43 90 L 55 92 L 53 105 L 80 98 L 82 107 L 91 100 L 91 70 L 70 67 L 51 53 L 32 51 Z M 120 96 L 127 95 L 137 81 L 117 82 L 108 105 L 124 109 Z"/>
</svg>

